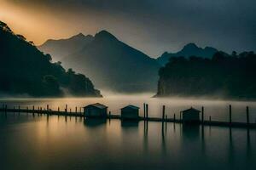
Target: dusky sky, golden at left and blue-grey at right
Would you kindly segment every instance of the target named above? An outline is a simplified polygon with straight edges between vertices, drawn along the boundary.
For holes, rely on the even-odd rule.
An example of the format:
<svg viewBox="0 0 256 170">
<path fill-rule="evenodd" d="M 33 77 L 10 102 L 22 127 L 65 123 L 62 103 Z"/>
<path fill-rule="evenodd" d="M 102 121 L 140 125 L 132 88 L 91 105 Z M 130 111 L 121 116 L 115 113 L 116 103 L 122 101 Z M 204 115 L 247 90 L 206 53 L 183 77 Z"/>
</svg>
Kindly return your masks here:
<svg viewBox="0 0 256 170">
<path fill-rule="evenodd" d="M 151 57 L 189 42 L 256 51 L 255 0 L 0 0 L 0 20 L 40 45 L 110 31 Z"/>
</svg>

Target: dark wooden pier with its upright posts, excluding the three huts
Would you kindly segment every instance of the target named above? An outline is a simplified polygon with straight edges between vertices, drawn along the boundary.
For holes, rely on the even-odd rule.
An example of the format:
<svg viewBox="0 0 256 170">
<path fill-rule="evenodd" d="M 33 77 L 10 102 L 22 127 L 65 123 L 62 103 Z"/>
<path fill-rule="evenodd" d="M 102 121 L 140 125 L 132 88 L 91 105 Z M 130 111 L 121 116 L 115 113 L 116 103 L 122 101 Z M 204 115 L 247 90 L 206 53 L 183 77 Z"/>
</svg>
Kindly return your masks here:
<svg viewBox="0 0 256 170">
<path fill-rule="evenodd" d="M 256 122 L 250 122 L 249 120 L 249 107 L 246 108 L 246 117 L 247 122 L 232 122 L 232 110 L 231 105 L 229 106 L 229 122 L 221 122 L 221 121 L 212 121 L 212 117 L 209 116 L 209 120 L 204 119 L 204 107 L 201 108 L 201 120 L 198 122 L 199 124 L 203 126 L 218 126 L 218 127 L 246 127 L 246 128 L 256 128 Z M 148 116 L 148 105 L 144 104 L 144 111 L 143 116 L 139 116 L 136 121 L 145 121 L 145 122 L 176 122 L 176 123 L 183 123 L 182 116 L 180 114 L 179 119 L 176 118 L 176 115 L 174 114 L 173 118 L 167 118 L 166 116 L 166 106 L 163 106 L 162 110 L 162 116 L 161 117 L 149 117 Z M 58 107 L 57 111 L 52 111 L 49 109 L 49 105 L 47 105 L 47 108 L 43 110 L 42 107 L 38 107 L 35 109 L 34 106 L 32 106 L 31 109 L 29 107 L 26 107 L 26 109 L 20 109 L 20 106 L 17 108 L 8 108 L 7 105 L 3 105 L 2 108 L 0 108 L 0 112 L 2 114 L 7 114 L 7 112 L 13 112 L 13 113 L 30 113 L 33 116 L 35 114 L 38 115 L 47 115 L 47 116 L 77 116 L 77 117 L 84 117 L 84 113 L 81 111 L 78 111 L 78 108 L 76 107 L 75 111 L 72 112 L 71 109 L 67 111 L 67 105 L 65 108 L 65 111 L 60 111 L 60 107 Z M 84 117 L 85 118 L 85 117 Z M 111 112 L 109 112 L 108 119 L 119 119 L 121 120 L 120 115 L 114 115 Z"/>
</svg>

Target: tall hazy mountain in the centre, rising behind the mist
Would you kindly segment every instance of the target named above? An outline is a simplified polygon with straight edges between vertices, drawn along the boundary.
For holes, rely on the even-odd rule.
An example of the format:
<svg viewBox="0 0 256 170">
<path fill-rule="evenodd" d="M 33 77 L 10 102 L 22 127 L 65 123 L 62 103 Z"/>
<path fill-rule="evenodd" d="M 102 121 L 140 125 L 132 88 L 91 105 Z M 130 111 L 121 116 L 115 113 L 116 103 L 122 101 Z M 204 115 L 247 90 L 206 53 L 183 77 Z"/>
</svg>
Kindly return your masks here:
<svg viewBox="0 0 256 170">
<path fill-rule="evenodd" d="M 78 41 L 76 44 L 79 44 L 79 47 L 68 48 L 67 44 L 71 45 L 74 39 Z M 60 41 L 61 43 L 48 41 L 39 48 L 53 54 L 54 58 L 56 54 L 57 59 L 61 59 L 60 54 L 67 54 L 61 59 L 62 64 L 93 78 L 97 87 L 118 92 L 145 92 L 156 89 L 160 68 L 157 61 L 120 42 L 108 31 L 100 31 L 95 37 L 79 35 Z M 65 48 L 59 48 L 64 42 Z"/>
</svg>

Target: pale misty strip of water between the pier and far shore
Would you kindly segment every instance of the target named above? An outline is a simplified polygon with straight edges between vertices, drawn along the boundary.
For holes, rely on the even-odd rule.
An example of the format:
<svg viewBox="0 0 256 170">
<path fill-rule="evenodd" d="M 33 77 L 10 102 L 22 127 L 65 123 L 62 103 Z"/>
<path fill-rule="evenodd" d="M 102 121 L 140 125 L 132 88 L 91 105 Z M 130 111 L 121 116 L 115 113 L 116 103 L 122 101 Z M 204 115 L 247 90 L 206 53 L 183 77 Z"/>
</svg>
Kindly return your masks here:
<svg viewBox="0 0 256 170">
<path fill-rule="evenodd" d="M 72 109 L 75 111 L 75 107 L 78 107 L 80 111 L 81 107 L 94 103 L 102 103 L 108 106 L 108 111 L 112 114 L 120 114 L 120 109 L 125 105 L 137 105 L 140 107 L 140 115 L 143 116 L 143 103 L 147 103 L 149 106 L 149 116 L 160 117 L 162 113 L 162 105 L 166 105 L 166 115 L 168 117 L 179 117 L 180 111 L 195 107 L 201 110 L 201 107 L 205 107 L 205 118 L 209 119 L 212 116 L 212 120 L 216 121 L 228 121 L 229 120 L 229 105 L 232 105 L 232 120 L 234 122 L 246 122 L 246 106 L 250 109 L 250 120 L 256 121 L 256 102 L 255 101 L 232 101 L 223 99 L 205 99 L 205 98 L 153 98 L 154 94 L 111 94 L 109 92 L 103 92 L 103 98 L 50 98 L 50 99 L 33 99 L 33 98 L 6 98 L 0 99 L 0 104 L 8 105 L 13 108 L 18 107 L 31 107 L 34 105 L 36 108 L 46 108 L 49 105 L 50 109 L 57 110 L 60 107 L 61 111 L 64 111 L 65 105 L 68 105 L 68 111 Z M 81 111 L 83 109 L 81 108 Z"/>
</svg>

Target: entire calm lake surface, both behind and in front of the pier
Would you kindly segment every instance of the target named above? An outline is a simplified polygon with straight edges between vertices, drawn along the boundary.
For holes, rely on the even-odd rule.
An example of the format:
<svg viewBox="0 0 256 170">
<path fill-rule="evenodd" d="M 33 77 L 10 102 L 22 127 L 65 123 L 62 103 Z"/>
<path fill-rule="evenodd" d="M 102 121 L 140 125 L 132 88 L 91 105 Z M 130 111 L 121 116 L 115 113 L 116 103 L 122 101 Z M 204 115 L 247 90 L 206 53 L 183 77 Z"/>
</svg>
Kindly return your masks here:
<svg viewBox="0 0 256 170">
<path fill-rule="evenodd" d="M 149 115 L 168 116 L 187 107 L 205 106 L 206 114 L 245 121 L 245 106 L 255 118 L 255 103 L 211 100 L 150 99 L 112 96 L 105 99 L 2 99 L 10 106 L 84 106 L 102 102 L 113 113 L 128 104 L 149 104 Z M 142 111 L 143 112 L 143 111 Z M 142 113 L 141 112 L 141 113 Z M 0 169 L 255 169 L 256 130 L 228 127 L 183 127 L 160 122 L 88 121 L 75 117 L 0 113 Z"/>
</svg>

